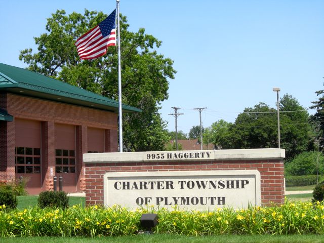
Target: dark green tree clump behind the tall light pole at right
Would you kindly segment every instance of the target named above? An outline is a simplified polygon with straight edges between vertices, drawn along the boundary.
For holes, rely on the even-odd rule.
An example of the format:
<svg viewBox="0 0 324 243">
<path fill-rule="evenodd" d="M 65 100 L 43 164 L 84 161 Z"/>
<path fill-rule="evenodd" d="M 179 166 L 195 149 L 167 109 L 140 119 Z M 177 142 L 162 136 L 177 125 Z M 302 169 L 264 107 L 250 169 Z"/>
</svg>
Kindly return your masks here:
<svg viewBox="0 0 324 243">
<path fill-rule="evenodd" d="M 280 144 L 286 149 L 286 159 L 314 148 L 309 114 L 291 95 L 280 99 Z M 246 108 L 228 131 L 230 148 L 278 147 L 276 109 L 265 103 Z"/>
</svg>

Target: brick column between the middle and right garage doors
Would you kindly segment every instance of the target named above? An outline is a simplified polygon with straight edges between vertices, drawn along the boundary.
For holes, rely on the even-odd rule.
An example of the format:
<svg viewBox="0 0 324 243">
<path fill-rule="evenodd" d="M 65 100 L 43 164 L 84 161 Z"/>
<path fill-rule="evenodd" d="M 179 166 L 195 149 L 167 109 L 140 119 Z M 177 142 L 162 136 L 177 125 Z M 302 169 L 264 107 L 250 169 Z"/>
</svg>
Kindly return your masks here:
<svg viewBox="0 0 324 243">
<path fill-rule="evenodd" d="M 86 190 L 84 153 L 88 153 L 88 128 L 86 126 L 76 126 L 75 176 L 77 191 Z"/>
</svg>

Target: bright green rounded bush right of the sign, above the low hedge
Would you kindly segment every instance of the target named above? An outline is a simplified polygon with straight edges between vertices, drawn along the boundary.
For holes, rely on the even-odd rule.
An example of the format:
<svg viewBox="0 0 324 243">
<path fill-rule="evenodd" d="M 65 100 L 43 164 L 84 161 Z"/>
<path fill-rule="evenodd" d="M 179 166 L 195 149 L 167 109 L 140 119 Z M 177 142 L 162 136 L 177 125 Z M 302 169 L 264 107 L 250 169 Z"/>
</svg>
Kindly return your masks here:
<svg viewBox="0 0 324 243">
<path fill-rule="evenodd" d="M 318 157 L 318 160 L 317 160 Z M 287 176 L 322 175 L 324 173 L 324 157 L 318 156 L 318 152 L 303 152 L 297 155 L 292 161 L 285 164 Z"/>
</svg>

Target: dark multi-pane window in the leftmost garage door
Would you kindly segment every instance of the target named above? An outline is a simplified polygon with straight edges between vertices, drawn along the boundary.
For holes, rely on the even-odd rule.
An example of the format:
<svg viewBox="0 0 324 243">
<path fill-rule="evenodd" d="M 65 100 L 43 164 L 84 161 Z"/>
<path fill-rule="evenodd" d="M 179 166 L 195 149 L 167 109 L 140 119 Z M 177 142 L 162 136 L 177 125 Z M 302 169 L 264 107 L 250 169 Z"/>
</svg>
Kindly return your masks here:
<svg viewBox="0 0 324 243">
<path fill-rule="evenodd" d="M 15 165 L 16 173 L 41 173 L 41 149 L 15 147 Z"/>
</svg>

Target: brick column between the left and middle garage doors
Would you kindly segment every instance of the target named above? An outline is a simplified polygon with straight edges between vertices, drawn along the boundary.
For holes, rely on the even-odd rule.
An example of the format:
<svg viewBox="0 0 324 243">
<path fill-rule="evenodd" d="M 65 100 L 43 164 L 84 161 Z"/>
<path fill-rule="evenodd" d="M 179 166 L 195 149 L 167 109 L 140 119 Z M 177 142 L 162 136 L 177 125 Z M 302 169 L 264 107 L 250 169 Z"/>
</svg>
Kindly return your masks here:
<svg viewBox="0 0 324 243">
<path fill-rule="evenodd" d="M 52 169 L 52 175 L 51 175 Z M 42 122 L 42 189 L 53 190 L 55 175 L 55 124 Z"/>
</svg>

